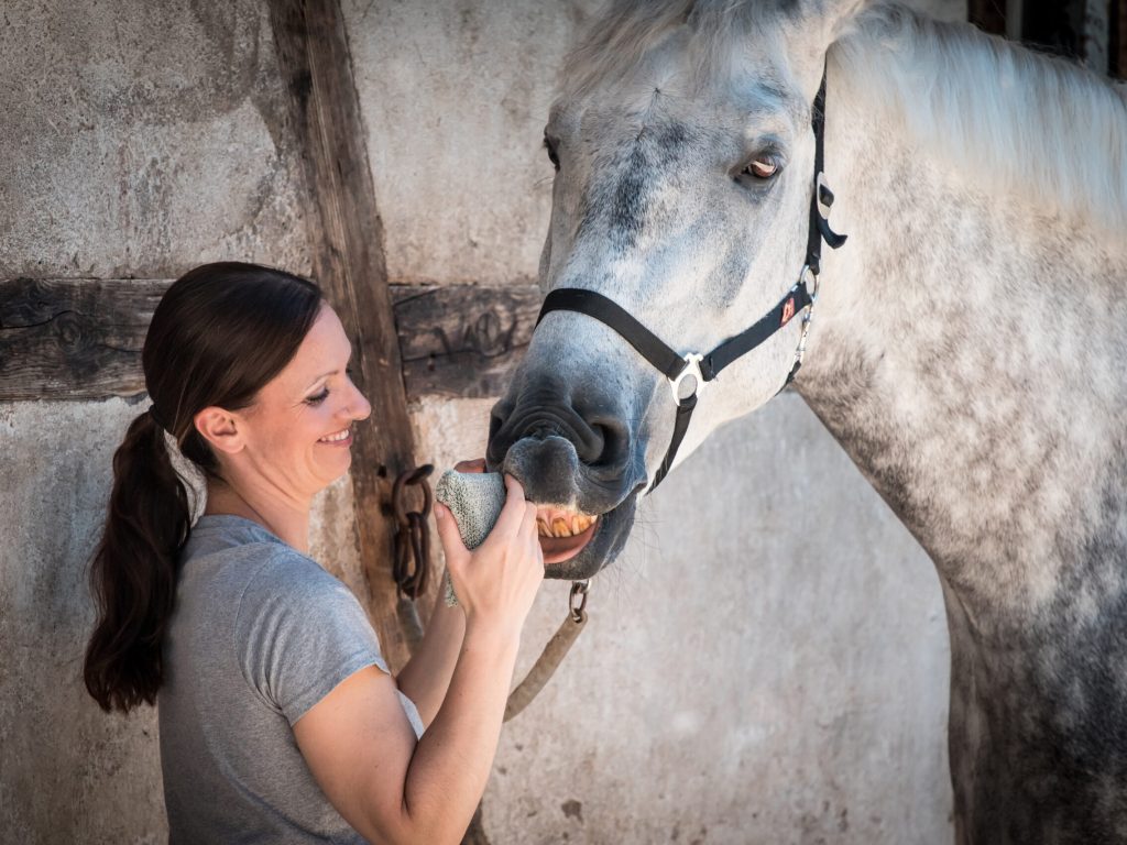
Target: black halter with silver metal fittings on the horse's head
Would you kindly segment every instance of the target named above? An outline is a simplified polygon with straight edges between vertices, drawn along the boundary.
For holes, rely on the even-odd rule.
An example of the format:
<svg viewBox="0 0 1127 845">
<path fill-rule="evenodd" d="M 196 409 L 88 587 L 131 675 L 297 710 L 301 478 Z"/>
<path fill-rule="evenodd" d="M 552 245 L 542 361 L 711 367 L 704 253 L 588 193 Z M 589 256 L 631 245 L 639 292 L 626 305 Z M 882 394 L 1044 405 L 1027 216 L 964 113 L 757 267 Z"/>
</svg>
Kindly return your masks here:
<svg viewBox="0 0 1127 845">
<path fill-rule="evenodd" d="M 804 327 L 802 339 L 799 341 L 799 348 L 795 355 L 795 366 L 787 375 L 783 388 L 795 380 L 795 375 L 802 365 L 806 331 L 809 327 L 814 302 L 817 299 L 817 275 L 822 269 L 822 241 L 825 240 L 833 249 L 837 249 L 845 242 L 845 235 L 834 232 L 826 219 L 829 214 L 829 206 L 833 205 L 834 195 L 826 185 L 823 172 L 825 106 L 826 74 L 823 71 L 822 86 L 818 88 L 817 97 L 814 98 L 814 110 L 810 118 L 815 144 L 814 190 L 810 197 L 810 230 L 806 247 L 806 266 L 795 286 L 749 329 L 728 338 L 707 355 L 690 353 L 682 357 L 622 306 L 600 293 L 579 287 L 560 287 L 544 297 L 544 304 L 536 318 L 536 326 L 552 311 L 577 311 L 580 314 L 593 317 L 614 329 L 669 380 L 673 388 L 673 399 L 677 404 L 677 417 L 673 426 L 673 439 L 669 443 L 669 448 L 665 453 L 665 460 L 662 461 L 657 474 L 654 475 L 654 483 L 650 484 L 649 491 L 655 490 L 662 483 L 662 480 L 669 472 L 669 468 L 673 466 L 673 459 L 677 454 L 681 441 L 684 439 L 685 432 L 689 430 L 689 420 L 696 407 L 696 391 L 700 390 L 701 384 L 716 379 L 721 370 L 757 347 L 789 323 L 795 314 L 805 310 L 807 313 L 804 315 L 806 327 Z M 683 397 L 680 391 L 682 382 L 687 379 L 692 379 L 692 392 Z M 780 388 L 781 390 L 782 388 Z"/>
</svg>

